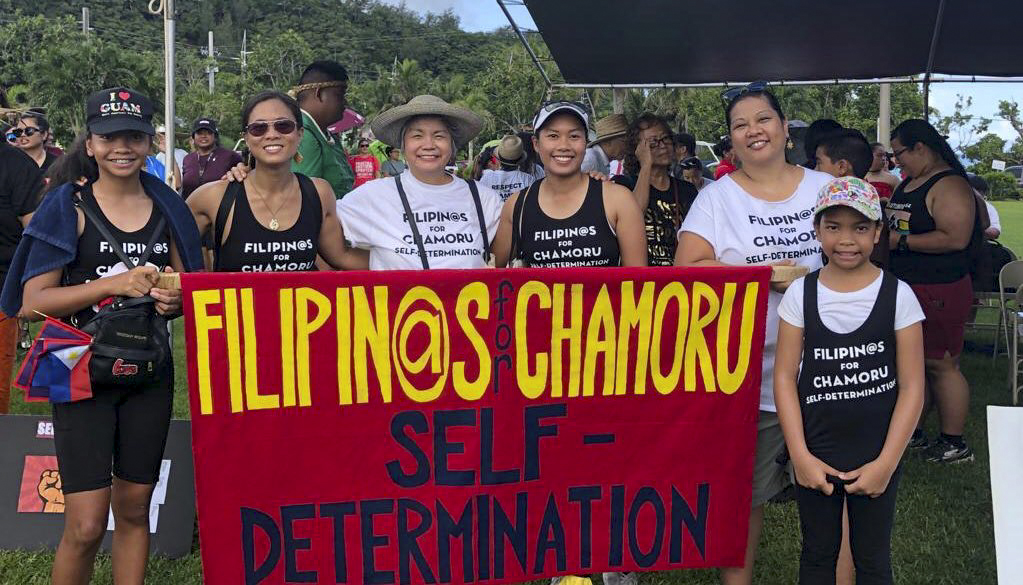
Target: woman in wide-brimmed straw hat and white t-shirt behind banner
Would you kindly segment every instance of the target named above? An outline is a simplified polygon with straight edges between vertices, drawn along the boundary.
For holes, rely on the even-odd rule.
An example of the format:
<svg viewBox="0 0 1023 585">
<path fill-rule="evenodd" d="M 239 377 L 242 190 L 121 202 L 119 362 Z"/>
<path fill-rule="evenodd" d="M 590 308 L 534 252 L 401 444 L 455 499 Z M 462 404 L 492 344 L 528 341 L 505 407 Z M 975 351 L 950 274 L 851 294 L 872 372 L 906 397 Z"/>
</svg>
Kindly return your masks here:
<svg viewBox="0 0 1023 585">
<path fill-rule="evenodd" d="M 369 251 L 370 270 L 485 268 L 501 199 L 493 189 L 445 171 L 457 148 L 483 127 L 480 118 L 419 95 L 370 124 L 379 140 L 401 148 L 408 169 L 369 181 L 338 200 L 344 237 Z"/>
</svg>

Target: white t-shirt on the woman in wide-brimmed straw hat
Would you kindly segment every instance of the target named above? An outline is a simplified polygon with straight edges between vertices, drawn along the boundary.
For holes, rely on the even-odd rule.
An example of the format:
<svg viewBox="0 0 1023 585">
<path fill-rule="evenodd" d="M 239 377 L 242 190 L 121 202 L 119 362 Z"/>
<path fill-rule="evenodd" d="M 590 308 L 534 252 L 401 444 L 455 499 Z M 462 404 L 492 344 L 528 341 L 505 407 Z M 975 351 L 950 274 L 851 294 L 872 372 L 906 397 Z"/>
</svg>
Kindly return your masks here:
<svg viewBox="0 0 1023 585">
<path fill-rule="evenodd" d="M 445 185 L 428 185 L 405 171 L 401 185 L 415 215 L 430 268 L 486 268 L 480 219 L 465 181 L 454 178 Z M 501 199 L 488 187 L 481 185 L 479 190 L 487 235 L 493 241 Z M 355 248 L 369 251 L 370 270 L 422 268 L 394 179 L 364 183 L 337 206 L 345 237 Z"/>
</svg>

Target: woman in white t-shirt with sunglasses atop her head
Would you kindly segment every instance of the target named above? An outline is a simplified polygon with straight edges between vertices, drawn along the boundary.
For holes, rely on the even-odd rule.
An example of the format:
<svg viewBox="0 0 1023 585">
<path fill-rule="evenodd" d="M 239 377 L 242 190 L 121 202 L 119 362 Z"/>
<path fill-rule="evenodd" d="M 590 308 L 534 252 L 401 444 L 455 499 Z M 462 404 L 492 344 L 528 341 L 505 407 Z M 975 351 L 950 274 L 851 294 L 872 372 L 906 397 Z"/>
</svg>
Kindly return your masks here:
<svg viewBox="0 0 1023 585">
<path fill-rule="evenodd" d="M 820 268 L 813 209 L 817 191 L 832 179 L 831 175 L 786 162 L 786 150 L 791 147 L 788 124 L 777 98 L 765 83 L 733 88 L 722 97 L 728 138 L 741 167 L 700 191 L 682 224 L 675 264 L 797 264 L 808 270 Z M 746 566 L 722 570 L 725 585 L 752 582 L 763 504 L 789 483 L 785 468 L 776 462 L 785 449 L 785 438 L 773 389 L 777 307 L 783 291 L 773 289 L 767 297 Z"/>
</svg>

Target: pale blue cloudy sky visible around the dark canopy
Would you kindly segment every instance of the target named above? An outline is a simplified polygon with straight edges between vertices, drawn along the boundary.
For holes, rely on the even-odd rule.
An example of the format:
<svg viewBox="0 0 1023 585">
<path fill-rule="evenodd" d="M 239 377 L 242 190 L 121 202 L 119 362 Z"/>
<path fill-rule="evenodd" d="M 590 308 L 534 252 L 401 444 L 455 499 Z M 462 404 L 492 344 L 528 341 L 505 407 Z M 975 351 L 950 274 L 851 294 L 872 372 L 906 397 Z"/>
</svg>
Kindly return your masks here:
<svg viewBox="0 0 1023 585">
<path fill-rule="evenodd" d="M 388 4 L 400 5 L 426 14 L 427 12 L 443 12 L 452 9 L 461 19 L 461 27 L 466 31 L 492 31 L 507 25 L 507 18 L 495 0 L 384 0 Z M 525 6 L 509 6 L 511 16 L 523 28 L 535 29 L 533 19 Z M 1023 84 L 1015 83 L 938 83 L 931 85 L 931 106 L 938 108 L 943 116 L 951 115 L 955 105 L 957 94 L 973 97 L 973 106 L 969 114 L 976 117 L 994 118 L 998 111 L 998 100 L 1015 99 L 1023 104 Z M 1006 138 L 1015 140 L 1019 137 L 1016 131 L 1003 120 L 995 120 L 990 131 Z M 869 137 L 873 138 L 873 137 Z M 954 142 L 958 137 L 950 137 Z"/>
</svg>

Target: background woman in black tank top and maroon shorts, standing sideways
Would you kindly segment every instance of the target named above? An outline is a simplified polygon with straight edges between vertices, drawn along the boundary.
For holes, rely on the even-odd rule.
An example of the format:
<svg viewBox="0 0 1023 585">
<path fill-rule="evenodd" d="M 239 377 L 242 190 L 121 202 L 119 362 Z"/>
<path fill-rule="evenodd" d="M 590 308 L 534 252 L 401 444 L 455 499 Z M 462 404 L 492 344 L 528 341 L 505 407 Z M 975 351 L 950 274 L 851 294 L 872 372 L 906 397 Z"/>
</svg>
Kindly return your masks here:
<svg viewBox="0 0 1023 585">
<path fill-rule="evenodd" d="M 941 435 L 933 444 L 918 429 L 909 447 L 926 448 L 932 462 L 972 461 L 973 450 L 963 438 L 970 386 L 959 369 L 959 356 L 973 304 L 971 251 L 982 241 L 977 200 L 963 164 L 933 126 L 906 120 L 891 138 L 894 158 L 910 178 L 896 187 L 888 204 L 889 268 L 909 283 L 927 316 L 928 397 L 937 403 L 941 421 Z"/>
</svg>

